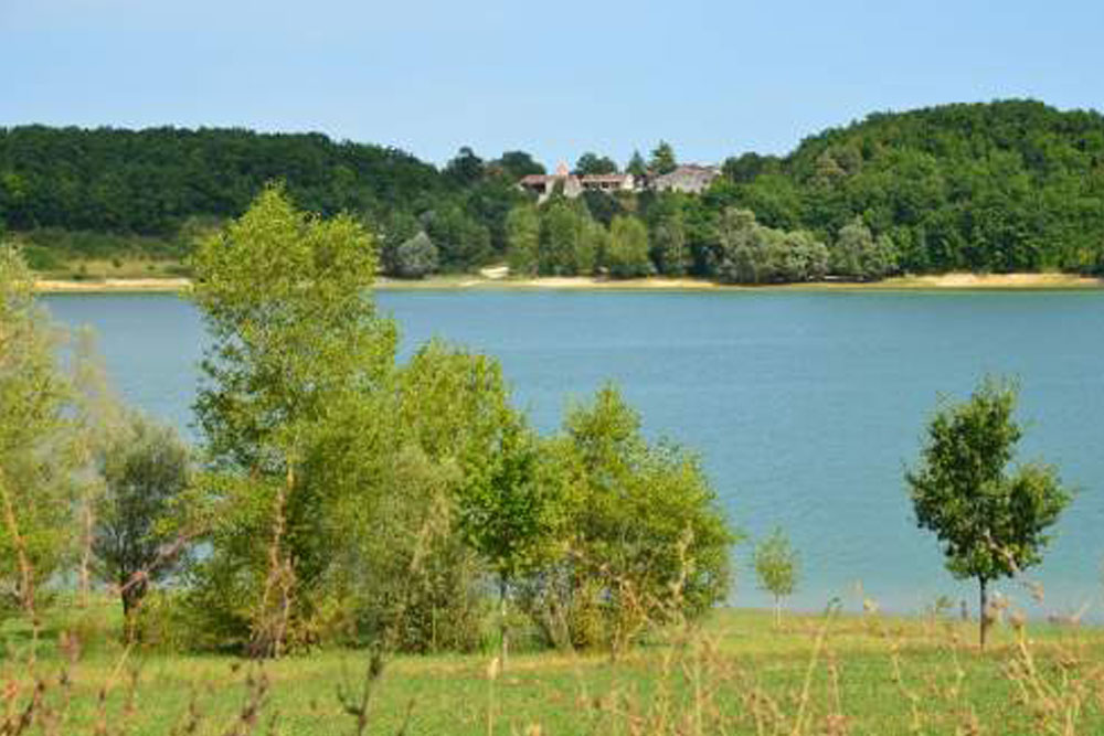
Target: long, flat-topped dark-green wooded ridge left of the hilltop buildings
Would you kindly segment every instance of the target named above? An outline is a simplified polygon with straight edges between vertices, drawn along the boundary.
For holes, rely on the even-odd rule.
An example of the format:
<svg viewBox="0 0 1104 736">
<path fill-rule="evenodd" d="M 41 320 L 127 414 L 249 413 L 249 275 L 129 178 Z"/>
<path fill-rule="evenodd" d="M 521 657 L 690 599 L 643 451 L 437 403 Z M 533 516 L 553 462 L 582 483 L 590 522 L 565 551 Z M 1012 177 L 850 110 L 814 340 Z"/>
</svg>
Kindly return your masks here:
<svg viewBox="0 0 1104 736">
<path fill-rule="evenodd" d="M 241 215 L 273 179 L 322 213 L 391 209 L 444 188 L 413 156 L 319 134 L 0 129 L 0 217 L 12 230 L 163 235 L 190 216 Z"/>
</svg>

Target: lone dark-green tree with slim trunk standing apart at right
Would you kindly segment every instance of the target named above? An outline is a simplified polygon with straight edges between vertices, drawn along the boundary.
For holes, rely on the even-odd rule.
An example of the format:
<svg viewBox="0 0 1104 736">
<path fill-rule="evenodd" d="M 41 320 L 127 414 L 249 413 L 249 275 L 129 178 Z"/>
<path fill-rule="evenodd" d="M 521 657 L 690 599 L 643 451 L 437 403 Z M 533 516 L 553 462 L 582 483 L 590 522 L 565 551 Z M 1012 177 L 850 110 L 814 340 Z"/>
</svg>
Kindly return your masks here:
<svg viewBox="0 0 1104 736">
<path fill-rule="evenodd" d="M 988 584 L 1041 561 L 1047 529 L 1071 498 L 1053 466 L 1006 471 L 1022 436 L 1016 401 L 1015 385 L 986 377 L 968 401 L 935 413 L 920 462 L 905 472 L 917 525 L 938 536 L 955 577 L 978 583 L 983 648 Z"/>
</svg>

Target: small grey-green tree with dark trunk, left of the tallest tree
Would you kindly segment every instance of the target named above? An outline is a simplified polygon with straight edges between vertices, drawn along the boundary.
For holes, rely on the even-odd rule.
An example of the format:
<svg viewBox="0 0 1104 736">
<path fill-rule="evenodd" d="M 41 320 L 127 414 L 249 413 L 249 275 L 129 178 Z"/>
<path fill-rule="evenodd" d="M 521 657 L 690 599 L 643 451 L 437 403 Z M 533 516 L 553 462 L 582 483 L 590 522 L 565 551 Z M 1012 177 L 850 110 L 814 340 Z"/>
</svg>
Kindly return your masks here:
<svg viewBox="0 0 1104 736">
<path fill-rule="evenodd" d="M 189 486 L 190 455 L 173 428 L 136 412 L 126 414 L 125 426 L 103 450 L 105 493 L 98 499 L 93 552 L 104 579 L 118 585 L 127 620 L 149 584 L 176 566 L 164 522 Z"/>
</svg>

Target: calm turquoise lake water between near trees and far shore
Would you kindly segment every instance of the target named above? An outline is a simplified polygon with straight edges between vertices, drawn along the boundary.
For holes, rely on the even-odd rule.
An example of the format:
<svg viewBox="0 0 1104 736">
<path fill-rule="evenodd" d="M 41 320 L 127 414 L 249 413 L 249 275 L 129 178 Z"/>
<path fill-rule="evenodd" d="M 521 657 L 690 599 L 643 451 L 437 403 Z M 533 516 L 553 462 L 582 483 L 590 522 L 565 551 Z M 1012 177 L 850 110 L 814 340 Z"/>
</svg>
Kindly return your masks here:
<svg viewBox="0 0 1104 736">
<path fill-rule="evenodd" d="M 997 588 L 1029 615 L 1091 606 L 1104 619 L 1104 295 L 1100 292 L 531 292 L 384 291 L 403 354 L 438 335 L 498 356 L 517 403 L 542 429 L 569 397 L 608 380 L 647 434 L 699 450 L 732 520 L 752 537 L 783 526 L 800 551 L 795 608 L 862 596 L 917 611 L 937 596 L 972 607 L 915 527 L 902 480 L 943 393 L 960 398 L 987 372 L 1021 382 L 1021 457 L 1059 466 L 1079 494 L 1029 577 L 1042 604 Z M 167 295 L 45 299 L 91 324 L 134 404 L 190 423 L 199 316 Z M 735 551 L 734 602 L 764 606 Z M 860 587 L 861 586 L 861 587 Z M 861 593 L 860 593 L 861 590 Z"/>
</svg>

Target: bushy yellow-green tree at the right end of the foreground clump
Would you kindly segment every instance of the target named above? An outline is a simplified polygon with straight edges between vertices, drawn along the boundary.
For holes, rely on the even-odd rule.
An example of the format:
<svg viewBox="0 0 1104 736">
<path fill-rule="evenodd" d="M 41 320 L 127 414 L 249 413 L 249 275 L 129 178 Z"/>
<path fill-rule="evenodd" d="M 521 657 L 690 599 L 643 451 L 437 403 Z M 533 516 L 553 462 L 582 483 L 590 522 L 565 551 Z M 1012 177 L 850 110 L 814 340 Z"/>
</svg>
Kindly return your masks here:
<svg viewBox="0 0 1104 736">
<path fill-rule="evenodd" d="M 550 641 L 617 647 L 724 598 L 739 536 L 698 459 L 647 442 L 615 388 L 573 407 L 549 451 L 565 479 L 571 537 L 522 600 Z"/>
</svg>

